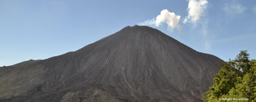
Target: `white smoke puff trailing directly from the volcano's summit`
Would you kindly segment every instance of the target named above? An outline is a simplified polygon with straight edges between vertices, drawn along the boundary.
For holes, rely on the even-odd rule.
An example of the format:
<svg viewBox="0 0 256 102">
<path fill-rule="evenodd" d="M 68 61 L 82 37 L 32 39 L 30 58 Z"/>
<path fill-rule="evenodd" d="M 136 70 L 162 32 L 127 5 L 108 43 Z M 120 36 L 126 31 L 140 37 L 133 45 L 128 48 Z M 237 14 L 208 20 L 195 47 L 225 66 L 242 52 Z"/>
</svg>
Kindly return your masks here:
<svg viewBox="0 0 256 102">
<path fill-rule="evenodd" d="M 173 28 L 177 28 L 178 31 L 182 29 L 179 25 L 180 16 L 176 15 L 174 12 L 169 12 L 167 9 L 161 11 L 160 15 L 156 19 L 146 20 L 143 23 L 138 23 L 140 26 L 157 26 L 159 27 L 162 23 L 166 23 L 169 30 L 172 31 Z"/>
</svg>

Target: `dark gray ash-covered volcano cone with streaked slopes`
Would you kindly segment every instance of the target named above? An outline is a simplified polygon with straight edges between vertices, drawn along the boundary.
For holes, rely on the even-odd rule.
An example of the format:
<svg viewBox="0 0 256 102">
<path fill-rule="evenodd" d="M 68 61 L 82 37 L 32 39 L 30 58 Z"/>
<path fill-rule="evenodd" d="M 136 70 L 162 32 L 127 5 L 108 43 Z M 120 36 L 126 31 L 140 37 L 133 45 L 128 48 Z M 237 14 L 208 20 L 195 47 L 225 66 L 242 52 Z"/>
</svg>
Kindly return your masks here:
<svg viewBox="0 0 256 102">
<path fill-rule="evenodd" d="M 78 51 L 1 67 L 0 101 L 200 101 L 221 62 L 157 29 L 127 26 Z"/>
</svg>

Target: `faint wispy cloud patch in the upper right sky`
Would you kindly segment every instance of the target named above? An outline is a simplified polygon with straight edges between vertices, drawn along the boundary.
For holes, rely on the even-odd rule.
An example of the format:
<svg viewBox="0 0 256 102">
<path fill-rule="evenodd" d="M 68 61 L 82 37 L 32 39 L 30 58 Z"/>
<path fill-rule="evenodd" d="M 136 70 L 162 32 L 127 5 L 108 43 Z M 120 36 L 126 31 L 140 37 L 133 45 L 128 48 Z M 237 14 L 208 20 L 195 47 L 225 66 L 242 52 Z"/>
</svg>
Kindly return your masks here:
<svg viewBox="0 0 256 102">
<path fill-rule="evenodd" d="M 246 8 L 239 3 L 235 3 L 234 1 L 232 3 L 224 4 L 224 7 L 222 9 L 227 15 L 234 16 L 234 15 L 242 14 Z"/>
</svg>

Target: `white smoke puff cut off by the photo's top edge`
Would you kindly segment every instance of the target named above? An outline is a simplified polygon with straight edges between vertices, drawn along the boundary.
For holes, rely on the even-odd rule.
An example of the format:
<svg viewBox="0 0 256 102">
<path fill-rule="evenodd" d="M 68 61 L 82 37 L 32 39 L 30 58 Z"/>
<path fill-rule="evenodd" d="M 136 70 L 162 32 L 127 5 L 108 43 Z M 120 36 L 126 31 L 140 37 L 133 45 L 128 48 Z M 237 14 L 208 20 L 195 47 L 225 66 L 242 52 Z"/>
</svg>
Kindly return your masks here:
<svg viewBox="0 0 256 102">
<path fill-rule="evenodd" d="M 195 23 L 200 17 L 204 14 L 205 9 L 207 8 L 207 0 L 188 0 L 188 16 L 185 17 L 183 23 L 190 22 Z"/>
</svg>

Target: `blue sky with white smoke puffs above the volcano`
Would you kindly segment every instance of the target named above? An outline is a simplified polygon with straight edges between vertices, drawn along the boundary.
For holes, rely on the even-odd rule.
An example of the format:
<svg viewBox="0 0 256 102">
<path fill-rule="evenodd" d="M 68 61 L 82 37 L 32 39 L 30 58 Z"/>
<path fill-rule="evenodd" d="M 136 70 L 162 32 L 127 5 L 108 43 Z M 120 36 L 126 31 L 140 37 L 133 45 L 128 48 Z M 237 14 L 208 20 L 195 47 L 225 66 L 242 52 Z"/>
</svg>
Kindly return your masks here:
<svg viewBox="0 0 256 102">
<path fill-rule="evenodd" d="M 76 51 L 135 24 L 224 61 L 241 50 L 256 59 L 256 0 L 0 0 L 0 66 Z"/>
</svg>

